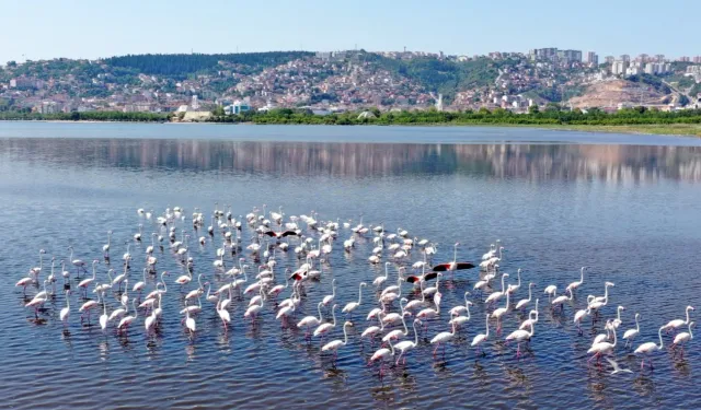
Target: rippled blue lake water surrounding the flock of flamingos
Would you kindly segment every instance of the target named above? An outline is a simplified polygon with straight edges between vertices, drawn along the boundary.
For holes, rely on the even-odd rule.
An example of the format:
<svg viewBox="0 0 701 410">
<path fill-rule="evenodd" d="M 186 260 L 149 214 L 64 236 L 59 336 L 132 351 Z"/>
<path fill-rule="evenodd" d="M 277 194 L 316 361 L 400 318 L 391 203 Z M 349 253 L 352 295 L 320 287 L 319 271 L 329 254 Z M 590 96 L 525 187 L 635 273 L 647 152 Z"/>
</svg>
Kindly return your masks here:
<svg viewBox="0 0 701 410">
<path fill-rule="evenodd" d="M 635 345 L 657 341 L 659 326 L 683 318 L 687 305 L 699 306 L 700 183 L 701 140 L 693 138 L 521 128 L 0 122 L 0 395 L 9 408 L 48 409 L 696 408 L 701 399 L 693 382 L 701 358 L 696 340 L 680 358 L 667 349 L 671 337 L 666 336 L 653 372 L 640 372 L 640 359 L 621 342 L 616 358 L 632 374 L 611 375 L 606 362 L 587 366 L 586 351 L 618 305 L 625 306 L 619 338 L 641 314 Z M 131 283 L 141 280 L 150 234 L 165 231 L 156 216 L 139 216 L 138 208 L 160 215 L 183 207 L 187 221 L 176 227 L 179 238 L 181 229 L 192 236 L 195 276 L 203 273 L 203 281 L 219 288 L 228 280 L 212 266 L 221 233 L 199 246 L 202 232 L 194 233 L 188 222 L 199 207 L 208 225 L 215 202 L 219 209 L 231 204 L 235 219 L 264 203 L 268 210 L 283 206 L 286 215 L 315 211 L 322 221 L 357 223 L 363 214 L 366 225 L 402 227 L 438 243 L 436 262 L 452 259 L 456 242 L 458 259 L 479 261 L 498 238 L 507 248 L 499 265 L 512 276 L 509 283 L 522 269 L 524 285 L 514 298 L 527 297 L 528 282 L 541 298 L 530 347 L 517 359 L 516 347 L 504 344 L 526 317 L 512 309 L 501 336 L 492 321 L 486 355 L 475 355 L 469 344 L 484 332 L 485 306 L 473 294 L 472 319 L 445 356 L 434 358 L 433 347 L 420 340 L 405 365 L 390 366 L 380 378 L 378 366 L 367 365 L 378 343 L 370 347 L 359 335 L 370 325 L 365 316 L 378 306 L 370 283 L 383 269 L 367 261 L 375 246 L 370 234 L 356 235 L 356 247 L 344 253 L 343 241 L 353 233 L 343 227 L 321 280 L 306 284 L 296 313 L 297 320 L 315 315 L 317 304 L 332 293 L 332 278 L 338 309 L 357 298 L 359 281 L 369 283 L 336 363 L 320 354 L 318 338 L 308 343 L 303 330 L 281 327 L 272 301 L 252 326 L 243 318 L 250 295 L 234 297 L 228 332 L 214 304 L 203 298 L 191 337 L 179 314 L 184 296 L 173 283 L 182 268 L 168 246 L 154 254 L 159 272 L 172 272 L 157 332 L 146 333 L 142 311 L 128 336 L 117 335 L 114 324 L 102 331 L 95 325 L 100 313 L 92 326 L 82 326 L 78 306 L 84 301 L 72 267 L 66 328 L 58 318 L 66 305 L 62 279 L 39 320 L 24 307 L 27 298 L 14 283 L 38 265 L 38 249 L 46 249 L 43 279 L 51 256 L 68 259 L 69 245 L 74 258 L 102 260 L 107 230 L 114 231 L 112 267 L 122 271 L 128 242 Z M 131 239 L 139 223 L 143 244 Z M 319 234 L 301 225 L 315 243 Z M 254 233 L 244 225 L 241 235 L 245 247 Z M 298 243 L 290 239 L 290 249 Z M 239 256 L 256 265 L 245 249 Z M 415 248 L 404 263 L 422 258 Z M 227 267 L 234 260 L 227 256 Z M 277 251 L 276 260 L 277 283 L 284 283 L 285 268 L 303 262 L 291 250 Z M 575 300 L 563 313 L 553 312 L 542 290 L 558 284 L 560 294 L 585 265 L 591 269 Z M 60 278 L 59 271 L 60 266 Z M 104 262 L 97 266 L 97 282 L 107 280 L 106 271 Z M 390 282 L 397 274 L 393 263 Z M 448 311 L 462 303 L 479 274 L 472 269 L 441 280 L 441 313 L 428 320 L 428 338 L 450 330 Z M 574 311 L 586 305 L 586 295 L 604 295 L 605 281 L 616 283 L 610 301 L 601 319 L 585 320 L 579 336 Z M 149 292 L 154 282 L 154 276 L 147 277 Z M 184 290 L 195 289 L 194 282 Z M 289 297 L 290 289 L 279 298 Z M 37 291 L 27 288 L 27 297 Z M 402 294 L 417 297 L 410 285 Z M 88 295 L 95 297 L 92 286 Z M 118 307 L 116 297 L 107 293 L 108 313 Z M 398 312 L 398 304 L 391 309 Z M 329 309 L 322 313 L 330 319 Z M 344 316 L 336 316 L 338 326 L 324 342 L 343 338 Z M 406 338 L 413 338 L 411 329 Z"/>
</svg>

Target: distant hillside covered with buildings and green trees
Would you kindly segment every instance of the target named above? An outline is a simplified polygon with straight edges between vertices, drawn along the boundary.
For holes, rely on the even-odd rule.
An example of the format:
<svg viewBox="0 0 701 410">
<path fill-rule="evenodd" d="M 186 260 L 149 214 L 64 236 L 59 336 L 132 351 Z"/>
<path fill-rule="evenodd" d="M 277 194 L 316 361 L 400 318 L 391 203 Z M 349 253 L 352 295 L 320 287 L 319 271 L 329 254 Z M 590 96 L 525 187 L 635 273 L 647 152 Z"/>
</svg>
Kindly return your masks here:
<svg viewBox="0 0 701 410">
<path fill-rule="evenodd" d="M 701 57 L 668 61 L 535 49 L 446 56 L 420 51 L 180 54 L 0 67 L 0 112 L 172 113 L 306 107 L 315 114 L 561 104 L 619 109 L 698 104 Z M 217 108 L 219 107 L 219 108 Z"/>
</svg>

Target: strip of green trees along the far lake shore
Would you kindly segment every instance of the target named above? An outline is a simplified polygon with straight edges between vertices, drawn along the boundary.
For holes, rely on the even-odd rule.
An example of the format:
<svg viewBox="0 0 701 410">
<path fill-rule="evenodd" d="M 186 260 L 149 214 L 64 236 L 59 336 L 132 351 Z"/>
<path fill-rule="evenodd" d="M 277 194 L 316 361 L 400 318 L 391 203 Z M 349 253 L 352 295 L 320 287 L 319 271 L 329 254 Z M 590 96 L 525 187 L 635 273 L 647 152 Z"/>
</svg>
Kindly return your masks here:
<svg viewBox="0 0 701 410">
<path fill-rule="evenodd" d="M 48 120 L 48 121 L 179 121 L 176 113 L 122 113 L 87 112 L 38 114 L 0 112 L 0 120 Z M 223 115 L 215 109 L 200 122 L 260 124 L 260 125 L 402 125 L 402 126 L 542 126 L 545 128 L 572 128 L 586 130 L 612 130 L 621 132 L 677 133 L 701 137 L 701 109 L 660 112 L 645 107 L 625 108 L 606 113 L 597 108 L 588 110 L 563 110 L 559 107 L 533 108 L 528 114 L 513 114 L 505 109 L 464 112 L 380 112 L 368 108 L 361 112 L 315 115 L 307 109 L 276 108 L 266 113 L 246 112 L 240 115 Z M 668 131 L 668 132 L 666 132 Z"/>
</svg>

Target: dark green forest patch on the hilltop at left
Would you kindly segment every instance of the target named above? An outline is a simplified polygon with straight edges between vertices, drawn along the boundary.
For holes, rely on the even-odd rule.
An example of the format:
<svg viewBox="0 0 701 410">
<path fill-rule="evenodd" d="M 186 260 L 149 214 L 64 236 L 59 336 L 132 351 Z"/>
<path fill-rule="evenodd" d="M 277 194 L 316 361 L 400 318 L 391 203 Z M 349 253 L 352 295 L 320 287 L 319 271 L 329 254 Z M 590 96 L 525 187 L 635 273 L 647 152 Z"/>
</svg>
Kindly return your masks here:
<svg viewBox="0 0 701 410">
<path fill-rule="evenodd" d="M 145 74 L 186 77 L 198 71 L 214 69 L 220 61 L 249 66 L 252 70 L 284 65 L 288 61 L 313 56 L 309 51 L 271 51 L 239 54 L 147 54 L 106 58 L 113 67 L 135 69 Z"/>
</svg>

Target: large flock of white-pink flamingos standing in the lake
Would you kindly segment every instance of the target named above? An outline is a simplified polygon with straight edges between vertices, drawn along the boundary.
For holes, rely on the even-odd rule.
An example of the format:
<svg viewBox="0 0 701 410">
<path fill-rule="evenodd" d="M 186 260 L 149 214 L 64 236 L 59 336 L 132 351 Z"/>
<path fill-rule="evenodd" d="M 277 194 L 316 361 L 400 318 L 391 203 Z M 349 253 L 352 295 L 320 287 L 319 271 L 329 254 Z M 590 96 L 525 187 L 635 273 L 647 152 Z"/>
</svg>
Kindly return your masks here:
<svg viewBox="0 0 701 410">
<path fill-rule="evenodd" d="M 103 331 L 112 327 L 117 333 L 127 337 L 129 328 L 142 326 L 145 331 L 150 333 L 162 326 L 162 300 L 175 293 L 183 304 L 180 311 L 182 324 L 192 337 L 197 332 L 197 317 L 204 309 L 214 309 L 221 319 L 225 331 L 228 331 L 233 320 L 230 313 L 232 305 L 243 303 L 243 317 L 244 320 L 251 321 L 251 326 L 257 326 L 257 315 L 264 308 L 274 309 L 275 317 L 283 326 L 303 329 L 309 342 L 312 338 L 319 339 L 322 354 L 332 354 L 334 364 L 337 351 L 348 343 L 348 328 L 363 326 L 364 328 L 356 332 L 359 338 L 372 344 L 381 341 L 379 349 L 369 359 L 370 363 L 378 363 L 380 375 L 383 374 L 387 362 L 400 365 L 403 360 L 405 363 L 406 355 L 412 350 L 428 344 L 427 341 L 433 345 L 434 356 L 439 349 L 443 349 L 445 354 L 446 344 L 456 338 L 456 332 L 461 326 L 472 319 L 470 306 L 473 303 L 484 303 L 487 307 L 484 332 L 474 336 L 470 343 L 475 354 L 485 354 L 491 340 L 504 338 L 507 343 L 516 343 L 516 355 L 520 356 L 521 344 L 537 339 L 540 297 L 533 300 L 533 283 L 521 286 L 520 269 L 516 273 L 517 282 L 507 284 L 509 274 L 499 272 L 499 263 L 503 263 L 504 257 L 504 247 L 499 241 L 490 246 L 476 265 L 458 260 L 459 244 L 453 246 L 451 261 L 434 263 L 434 243 L 412 237 L 402 229 L 386 231 L 382 224 L 366 226 L 363 224 L 363 218 L 357 224 L 350 221 L 340 223 L 338 220 L 322 222 L 314 212 L 310 215 L 286 218 L 281 208 L 277 212 L 268 212 L 263 206 L 261 210 L 254 208 L 245 216 L 234 219 L 230 208 L 228 211 L 226 207 L 225 210 L 219 210 L 218 204 L 209 215 L 195 209 L 192 219 L 187 219 L 185 211 L 177 207 L 166 209 L 160 215 L 143 209 L 139 209 L 137 213 L 138 227 L 135 229 L 133 238 L 125 243 L 126 253 L 118 256 L 119 263 L 111 262 L 112 231 L 106 233 L 102 247 L 104 255 L 100 259 L 114 267 L 106 272 L 99 274 L 101 260 L 81 259 L 72 246 L 67 249 L 67 259 L 50 259 L 50 271 L 47 272 L 45 251 L 39 250 L 38 266 L 30 269 L 27 276 L 16 282 L 18 289 L 24 293 L 25 306 L 36 319 L 39 319 L 39 315 L 58 317 L 64 326 L 68 326 L 71 317 L 79 313 L 83 326 L 96 326 L 91 323 L 91 316 L 97 316 L 99 326 Z M 192 242 L 198 242 L 202 247 L 210 244 L 209 247 L 216 251 L 216 259 L 209 269 L 198 266 L 193 258 L 195 253 L 189 250 L 191 235 L 186 233 L 188 224 L 193 227 Z M 149 230 L 145 234 L 145 226 L 150 226 L 154 232 Z M 344 236 L 348 238 L 338 246 L 341 244 L 336 243 L 341 241 L 337 238 L 342 232 L 345 232 Z M 250 239 L 244 241 L 242 235 L 249 233 Z M 378 271 L 383 270 L 384 274 L 377 276 L 371 283 L 357 283 L 357 302 L 344 306 L 337 303 L 333 279 L 332 294 L 325 295 L 314 304 L 317 315 L 299 317 L 298 309 L 306 297 L 304 289 L 326 279 L 323 269 L 324 265 L 330 262 L 331 254 L 357 251 L 356 241 L 359 237 L 372 241 L 374 249 L 367 262 L 383 267 Z M 143 249 L 145 246 L 143 255 L 131 254 L 133 247 Z M 139 250 L 141 251 L 143 250 Z M 157 255 L 161 258 L 174 258 L 182 271 L 177 274 L 166 271 L 159 273 Z M 290 259 L 292 262 L 289 262 Z M 141 260 L 143 268 L 137 269 L 135 262 Z M 294 268 L 283 268 L 281 265 Z M 447 312 L 441 311 L 441 278 L 447 280 L 462 274 L 458 271 L 473 268 L 480 270 L 479 280 L 473 284 L 471 292 L 464 292 L 464 304 L 453 306 Z M 203 282 L 203 273 L 195 273 L 197 270 L 211 269 L 219 279 L 217 289 L 210 281 Z M 397 281 L 390 278 L 390 270 L 392 274 L 397 272 Z M 583 267 L 578 280 L 566 285 L 564 292 L 561 292 L 563 294 L 558 295 L 558 286 L 552 284 L 542 292 L 537 290 L 536 295 L 542 295 L 543 300 L 548 297 L 547 304 L 551 309 L 564 309 L 565 304 L 579 291 L 586 271 L 587 267 Z M 151 280 L 147 279 L 149 277 Z M 58 316 L 46 304 L 57 292 L 61 292 L 57 290 L 57 283 L 59 286 L 62 283 L 61 291 L 66 293 L 66 306 L 58 312 Z M 612 286 L 614 283 L 604 283 L 604 294 L 588 295 L 587 307 L 574 313 L 574 323 L 579 329 L 579 335 L 581 324 L 585 319 L 600 319 L 600 312 L 609 304 L 609 289 Z M 30 291 L 36 290 L 36 293 L 27 295 L 27 288 Z M 374 297 L 369 302 L 364 302 L 363 298 L 366 288 L 374 289 Z M 366 295 L 369 293 L 368 290 Z M 528 293 L 528 297 L 517 300 L 518 293 Z M 76 305 L 70 303 L 71 294 L 80 296 L 76 298 Z M 207 305 L 202 304 L 203 296 Z M 365 301 L 368 298 L 366 296 Z M 322 309 L 326 313 L 330 311 L 331 318 L 324 318 Z M 663 332 L 671 333 L 671 349 L 675 354 L 678 351 L 683 355 L 685 344 L 693 338 L 693 321 L 690 321 L 690 313 L 693 309 L 692 306 L 688 306 L 683 318 L 670 320 L 662 326 L 658 330 L 659 343 L 646 341 L 634 348 L 633 352 L 642 358 L 641 371 L 646 364 L 653 368 L 652 355 L 660 351 L 665 343 Z M 524 320 L 518 329 L 501 336 L 502 321 L 506 315 L 526 311 L 529 312 L 528 319 Z M 619 332 L 623 330 L 622 311 L 624 307 L 618 306 L 617 316 L 606 320 L 606 332 L 597 335 L 588 350 L 591 355 L 588 362 L 600 362 L 601 358 L 606 358 L 613 368 L 612 373 L 631 372 L 621 368 L 610 359 L 622 341 L 619 340 Z M 344 320 L 337 323 L 337 315 L 343 315 Z M 621 336 L 625 347 L 630 344 L 631 349 L 640 333 L 639 317 L 640 315 L 635 314 L 635 327 L 625 329 Z M 429 324 L 432 327 L 439 326 L 449 331 L 435 331 L 429 329 Z M 495 327 L 493 331 L 490 331 L 491 326 Z M 343 339 L 329 340 L 336 329 L 343 330 Z M 420 339 L 420 335 L 424 338 Z"/>
</svg>

